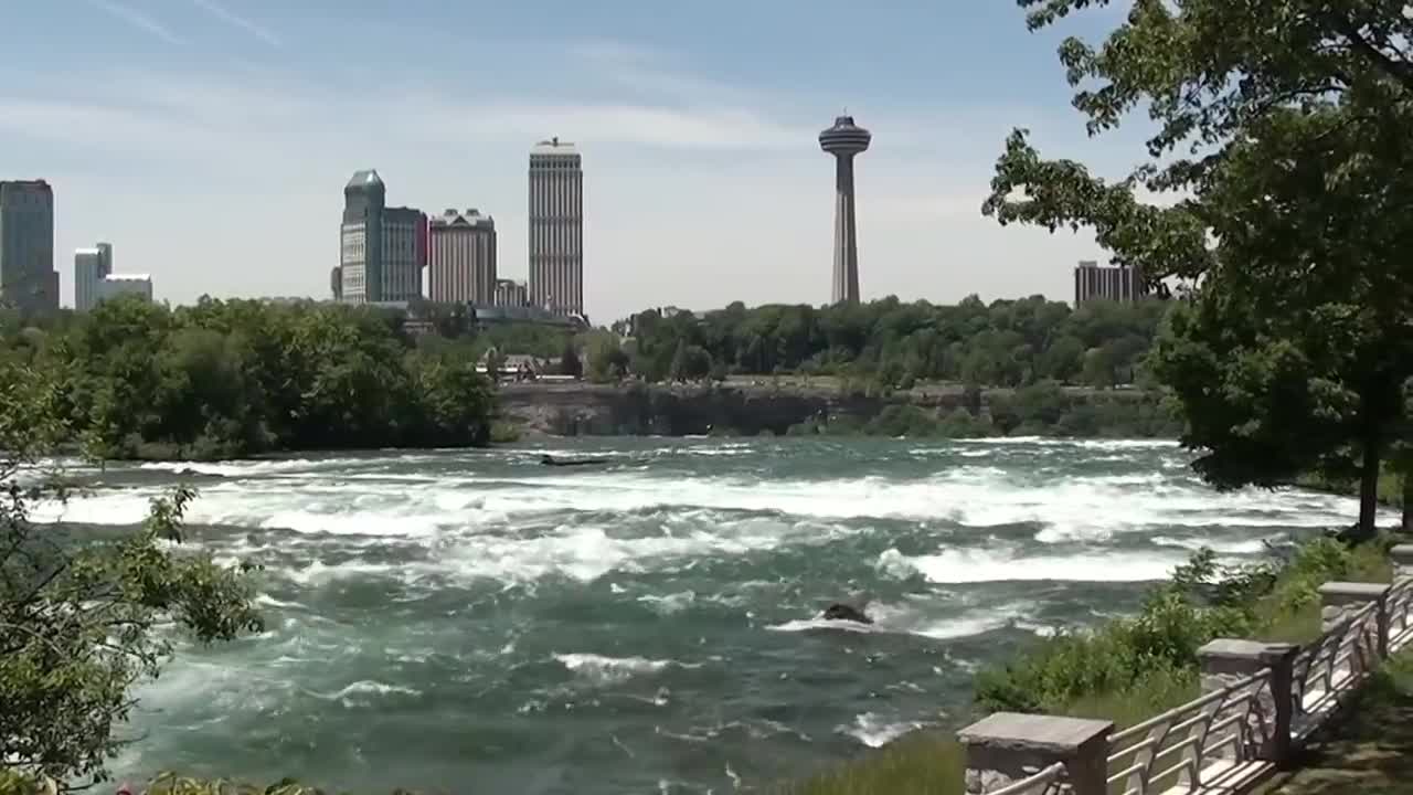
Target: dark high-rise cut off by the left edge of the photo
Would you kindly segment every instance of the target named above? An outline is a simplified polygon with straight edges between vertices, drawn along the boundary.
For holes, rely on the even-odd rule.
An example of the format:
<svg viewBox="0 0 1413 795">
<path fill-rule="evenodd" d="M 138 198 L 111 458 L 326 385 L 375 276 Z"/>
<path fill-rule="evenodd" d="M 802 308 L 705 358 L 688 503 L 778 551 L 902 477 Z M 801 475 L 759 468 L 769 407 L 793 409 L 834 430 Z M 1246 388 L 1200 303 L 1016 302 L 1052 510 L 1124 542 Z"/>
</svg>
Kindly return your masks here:
<svg viewBox="0 0 1413 795">
<path fill-rule="evenodd" d="M 0 303 L 27 313 L 59 308 L 54 190 L 44 180 L 0 181 Z"/>
</svg>

